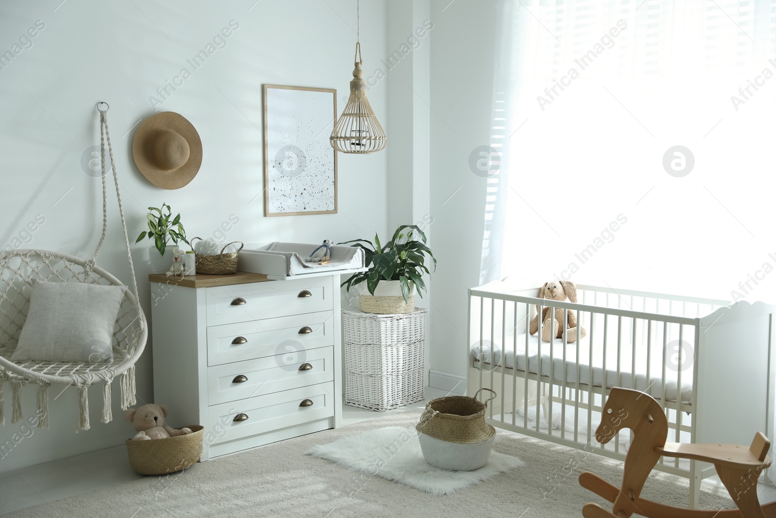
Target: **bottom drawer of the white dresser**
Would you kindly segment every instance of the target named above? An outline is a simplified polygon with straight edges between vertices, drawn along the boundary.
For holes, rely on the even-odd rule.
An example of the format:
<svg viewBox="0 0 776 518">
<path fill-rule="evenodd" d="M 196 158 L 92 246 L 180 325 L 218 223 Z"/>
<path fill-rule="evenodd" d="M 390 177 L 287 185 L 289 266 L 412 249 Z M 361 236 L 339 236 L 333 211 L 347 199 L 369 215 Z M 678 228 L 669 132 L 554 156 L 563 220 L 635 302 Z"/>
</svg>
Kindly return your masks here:
<svg viewBox="0 0 776 518">
<path fill-rule="evenodd" d="M 312 405 L 300 406 L 303 402 L 311 402 Z M 210 429 L 219 430 L 213 443 L 225 443 L 286 426 L 326 419 L 334 415 L 334 383 L 293 388 L 213 405 L 208 408 L 208 414 Z"/>
</svg>

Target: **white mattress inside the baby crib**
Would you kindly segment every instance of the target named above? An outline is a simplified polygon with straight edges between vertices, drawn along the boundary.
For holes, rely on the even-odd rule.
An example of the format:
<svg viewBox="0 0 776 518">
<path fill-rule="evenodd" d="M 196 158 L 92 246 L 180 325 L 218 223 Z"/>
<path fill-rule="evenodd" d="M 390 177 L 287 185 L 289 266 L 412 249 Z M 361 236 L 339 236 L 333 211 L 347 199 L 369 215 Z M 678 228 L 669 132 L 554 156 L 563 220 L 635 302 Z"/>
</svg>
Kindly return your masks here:
<svg viewBox="0 0 776 518">
<path fill-rule="evenodd" d="M 560 383 L 565 378 L 567 385 L 577 383 L 578 366 L 580 384 L 591 384 L 592 377 L 594 387 L 605 385 L 606 388 L 635 388 L 656 399 L 664 397 L 667 401 L 677 401 L 677 388 L 680 386 L 679 373 L 669 368 L 665 369 L 665 395 L 663 395 L 663 349 L 655 344 L 653 344 L 649 362 L 647 361 L 646 344 L 636 343 L 636 347 L 633 347 L 630 342 L 626 344 L 624 340 L 618 350 L 616 339 L 610 339 L 605 348 L 602 336 L 593 340 L 592 354 L 589 335 L 581 339 L 578 344 L 566 344 L 565 362 L 563 359 L 563 339 L 554 339 L 552 345 L 550 342 L 543 341 L 539 344 L 539 335 L 529 334 L 528 355 L 525 354 L 525 348 L 526 335 L 524 333 L 517 336 L 516 349 L 514 350 L 512 339 L 508 339 L 505 353 L 501 344 L 496 342 L 492 362 L 490 355 L 481 352 L 478 347 L 473 347 L 471 352 L 475 360 L 482 360 L 481 363 L 476 364 L 493 364 L 508 369 L 515 368 L 515 356 L 517 356 L 517 370 L 529 374 L 541 374 L 546 377 L 550 377 L 552 374 L 554 381 Z M 632 368 L 634 351 L 636 354 L 635 374 Z M 527 368 L 526 356 L 528 356 Z M 618 363 L 621 366 L 619 372 Z M 650 366 L 649 377 L 648 364 Z M 692 401 L 691 368 L 681 372 L 681 401 L 685 403 Z"/>
</svg>

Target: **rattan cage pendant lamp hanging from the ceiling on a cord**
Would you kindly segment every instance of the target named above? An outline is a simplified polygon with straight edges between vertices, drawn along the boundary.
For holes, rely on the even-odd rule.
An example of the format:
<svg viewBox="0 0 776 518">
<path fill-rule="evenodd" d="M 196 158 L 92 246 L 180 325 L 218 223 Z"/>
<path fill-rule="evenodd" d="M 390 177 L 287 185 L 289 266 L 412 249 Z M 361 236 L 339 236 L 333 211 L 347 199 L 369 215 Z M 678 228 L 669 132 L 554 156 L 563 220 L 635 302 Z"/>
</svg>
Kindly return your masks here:
<svg viewBox="0 0 776 518">
<path fill-rule="evenodd" d="M 331 147 L 341 153 L 374 153 L 386 147 L 388 137 L 386 132 L 369 106 L 366 98 L 366 82 L 361 57 L 361 37 L 359 34 L 360 6 L 356 2 L 356 43 L 355 43 L 355 68 L 353 80 L 350 82 L 350 99 L 342 110 L 334 130 L 329 137 Z"/>
</svg>

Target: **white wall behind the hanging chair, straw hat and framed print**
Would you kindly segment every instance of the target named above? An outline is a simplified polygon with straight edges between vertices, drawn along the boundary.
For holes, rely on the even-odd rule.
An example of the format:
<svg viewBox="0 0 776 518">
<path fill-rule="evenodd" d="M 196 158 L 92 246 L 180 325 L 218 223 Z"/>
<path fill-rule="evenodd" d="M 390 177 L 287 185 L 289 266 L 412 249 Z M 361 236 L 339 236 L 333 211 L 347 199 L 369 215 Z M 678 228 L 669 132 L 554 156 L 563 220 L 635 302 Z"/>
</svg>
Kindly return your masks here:
<svg viewBox="0 0 776 518">
<path fill-rule="evenodd" d="M 239 223 L 227 233 L 229 241 L 345 241 L 385 233 L 385 152 L 340 155 L 339 214 L 263 216 L 263 196 L 258 196 L 263 187 L 262 83 L 335 88 L 341 110 L 352 78 L 355 0 L 254 2 L 3 2 L 0 51 L 10 50 L 36 20 L 45 28 L 32 47 L 0 70 L 0 248 L 21 245 L 91 256 L 99 239 L 99 178 L 81 169 L 81 153 L 99 144 L 95 103 L 101 100 L 110 103 L 123 204 L 134 236 L 144 224 L 145 208 L 162 202 L 182 214 L 189 237 L 213 236 L 232 214 Z M 362 2 L 361 8 L 363 54 L 376 63 L 387 54 L 386 2 Z M 226 47 L 194 71 L 187 59 L 230 20 L 239 27 Z M 191 77 L 159 110 L 181 113 L 193 123 L 203 141 L 203 163 L 189 186 L 165 191 L 137 171 L 131 141 L 135 124 L 154 113 L 149 96 L 182 68 L 189 68 Z M 370 90 L 369 100 L 390 134 L 385 81 Z M 128 283 L 115 200 L 109 198 L 109 207 L 109 237 L 98 262 Z M 45 223 L 26 234 L 26 224 L 38 214 Z M 147 254 L 146 244 L 133 245 L 140 297 L 149 315 Z M 149 343 L 137 365 L 139 404 L 153 401 L 152 350 Z M 118 397 L 113 398 L 116 420 L 106 425 L 99 422 L 100 390 L 91 392 L 92 429 L 74 433 L 78 403 L 73 388 L 56 399 L 54 392 L 50 429 L 35 429 L 23 439 L 0 459 L 0 471 L 123 443 L 132 430 L 122 419 Z M 35 387 L 24 389 L 26 415 L 35 412 L 35 396 Z M 10 411 L 7 389 L 7 416 Z M 21 424 L 0 427 L 0 443 Z"/>
</svg>

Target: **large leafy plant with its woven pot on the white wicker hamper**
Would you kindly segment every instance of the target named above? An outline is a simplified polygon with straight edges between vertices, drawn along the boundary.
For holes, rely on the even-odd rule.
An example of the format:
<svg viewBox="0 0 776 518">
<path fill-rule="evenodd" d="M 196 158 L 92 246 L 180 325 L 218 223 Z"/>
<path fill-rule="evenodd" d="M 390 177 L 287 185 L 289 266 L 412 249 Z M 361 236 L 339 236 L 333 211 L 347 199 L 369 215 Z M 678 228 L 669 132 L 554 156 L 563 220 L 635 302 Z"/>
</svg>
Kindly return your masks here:
<svg viewBox="0 0 776 518">
<path fill-rule="evenodd" d="M 416 231 L 421 241 L 414 238 Z M 369 271 L 354 273 L 342 283 L 348 291 L 359 286 L 359 309 L 381 314 L 414 311 L 415 291 L 423 297 L 422 292 L 426 289 L 423 273 L 431 273 L 425 265 L 426 256 L 431 257 L 436 269 L 436 259 L 426 246 L 424 232 L 417 225 L 400 225 L 386 245 L 380 245 L 377 235 L 374 243 L 353 239 L 340 244 L 348 243 L 364 250 L 365 266 L 369 267 Z"/>
</svg>

